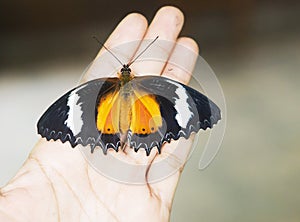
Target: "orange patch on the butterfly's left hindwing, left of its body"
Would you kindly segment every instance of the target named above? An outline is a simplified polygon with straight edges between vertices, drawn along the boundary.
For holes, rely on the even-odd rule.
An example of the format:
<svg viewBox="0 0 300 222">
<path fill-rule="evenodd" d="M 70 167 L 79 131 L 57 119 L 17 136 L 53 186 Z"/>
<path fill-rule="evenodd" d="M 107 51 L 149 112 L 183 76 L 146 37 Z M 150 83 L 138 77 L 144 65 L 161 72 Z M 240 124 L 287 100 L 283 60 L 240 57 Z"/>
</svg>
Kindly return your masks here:
<svg viewBox="0 0 300 222">
<path fill-rule="evenodd" d="M 120 102 L 119 92 L 103 96 L 98 105 L 97 129 L 104 134 L 119 132 Z"/>
</svg>

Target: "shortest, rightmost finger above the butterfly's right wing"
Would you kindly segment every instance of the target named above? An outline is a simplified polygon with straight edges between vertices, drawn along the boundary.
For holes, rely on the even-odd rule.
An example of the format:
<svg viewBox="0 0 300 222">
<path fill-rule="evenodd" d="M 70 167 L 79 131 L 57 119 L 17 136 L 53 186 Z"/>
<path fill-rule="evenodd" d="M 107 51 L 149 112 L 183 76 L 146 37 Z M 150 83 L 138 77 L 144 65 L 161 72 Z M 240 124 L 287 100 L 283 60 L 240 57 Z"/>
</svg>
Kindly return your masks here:
<svg viewBox="0 0 300 222">
<path fill-rule="evenodd" d="M 198 52 L 198 45 L 193 39 L 179 38 L 162 76 L 188 84 L 198 58 Z"/>
</svg>

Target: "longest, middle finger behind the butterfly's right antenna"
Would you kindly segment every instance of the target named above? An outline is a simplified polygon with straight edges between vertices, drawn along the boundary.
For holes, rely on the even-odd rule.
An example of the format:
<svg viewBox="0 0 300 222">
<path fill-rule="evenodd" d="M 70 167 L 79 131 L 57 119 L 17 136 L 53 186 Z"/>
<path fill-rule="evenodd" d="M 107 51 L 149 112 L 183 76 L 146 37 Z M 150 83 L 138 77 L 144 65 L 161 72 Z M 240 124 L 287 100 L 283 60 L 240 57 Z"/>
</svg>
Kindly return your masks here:
<svg viewBox="0 0 300 222">
<path fill-rule="evenodd" d="M 159 36 L 159 38 L 151 48 L 143 54 L 143 61 L 136 61 L 132 64 L 132 70 L 136 72 L 136 75 L 161 74 L 165 62 L 168 60 L 182 29 L 183 22 L 183 13 L 175 7 L 163 7 L 156 13 L 144 39 L 151 41 L 155 39 L 156 36 Z M 142 42 L 136 54 L 139 54 L 147 44 L 149 44 L 149 41 Z M 158 61 L 158 59 L 160 61 Z"/>
</svg>

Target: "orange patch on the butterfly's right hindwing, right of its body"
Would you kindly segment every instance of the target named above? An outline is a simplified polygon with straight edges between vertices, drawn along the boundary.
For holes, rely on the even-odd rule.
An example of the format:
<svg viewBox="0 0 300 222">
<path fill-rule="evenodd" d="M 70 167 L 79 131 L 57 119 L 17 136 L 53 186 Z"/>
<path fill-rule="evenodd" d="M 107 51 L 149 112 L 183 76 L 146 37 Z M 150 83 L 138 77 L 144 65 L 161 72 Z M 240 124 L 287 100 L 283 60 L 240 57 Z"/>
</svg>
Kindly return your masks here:
<svg viewBox="0 0 300 222">
<path fill-rule="evenodd" d="M 130 130 L 136 134 L 150 134 L 162 126 L 159 104 L 151 95 L 139 95 L 132 102 Z"/>
</svg>

